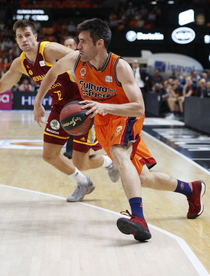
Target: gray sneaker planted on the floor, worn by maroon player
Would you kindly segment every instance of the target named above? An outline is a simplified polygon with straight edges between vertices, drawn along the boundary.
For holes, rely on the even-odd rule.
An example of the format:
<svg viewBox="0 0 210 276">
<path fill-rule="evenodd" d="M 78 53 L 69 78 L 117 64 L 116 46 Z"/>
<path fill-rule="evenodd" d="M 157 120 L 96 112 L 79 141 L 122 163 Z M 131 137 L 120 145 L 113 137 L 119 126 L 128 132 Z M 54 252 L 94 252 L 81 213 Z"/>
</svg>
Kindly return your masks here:
<svg viewBox="0 0 210 276">
<path fill-rule="evenodd" d="M 82 201 L 86 194 L 90 194 L 95 189 L 95 185 L 93 184 L 93 182 L 90 180 L 89 177 L 87 177 L 86 184 L 77 182 L 77 186 L 75 187 L 76 187 L 76 190 L 73 192 L 72 195 L 67 197 L 66 201 L 68 202 Z"/>
</svg>

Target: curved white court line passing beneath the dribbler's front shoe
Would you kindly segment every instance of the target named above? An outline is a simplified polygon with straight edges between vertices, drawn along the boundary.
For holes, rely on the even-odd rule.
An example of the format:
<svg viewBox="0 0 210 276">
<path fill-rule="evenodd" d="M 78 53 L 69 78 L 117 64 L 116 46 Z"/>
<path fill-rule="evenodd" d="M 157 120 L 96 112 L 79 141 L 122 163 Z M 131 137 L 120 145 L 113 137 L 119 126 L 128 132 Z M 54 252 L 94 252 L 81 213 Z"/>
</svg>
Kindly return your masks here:
<svg viewBox="0 0 210 276">
<path fill-rule="evenodd" d="M 59 196 L 56 196 L 56 195 L 53 195 L 53 194 L 46 194 L 46 193 L 42 193 L 42 192 L 38 192 L 38 191 L 33 191 L 33 190 L 28 190 L 28 189 L 13 187 L 13 186 L 7 186 L 7 185 L 2 185 L 2 184 L 0 184 L 0 186 L 12 188 L 12 189 L 17 189 L 17 190 L 28 191 L 28 192 L 35 193 L 35 194 L 43 194 L 43 195 L 46 195 L 46 196 L 66 200 L 65 197 L 59 197 Z M 95 206 L 95 205 L 91 205 L 91 204 L 88 204 L 88 203 L 84 203 L 84 202 L 74 202 L 74 203 L 86 205 L 86 206 L 89 206 L 89 207 L 92 207 L 92 208 L 96 208 L 96 209 L 99 209 L 99 210 L 102 210 L 102 211 L 105 211 L 105 212 L 115 214 L 115 215 L 120 216 L 120 217 L 126 217 L 126 216 L 121 215 L 120 213 L 117 213 L 117 212 L 114 212 L 114 211 L 111 211 L 111 210 L 108 210 L 108 209 L 105 209 L 105 208 L 101 208 L 101 207 L 98 207 L 98 206 Z M 71 204 L 71 203 L 69 203 L 69 204 Z M 205 269 L 205 267 L 202 265 L 202 263 L 199 261 L 199 259 L 196 257 L 196 255 L 193 253 L 193 251 L 190 249 L 190 247 L 187 245 L 185 240 L 183 240 L 182 238 L 180 238 L 178 236 L 175 236 L 174 234 L 172 234 L 168 231 L 165 231 L 165 230 L 163 230 L 159 227 L 156 227 L 152 224 L 148 224 L 148 226 L 150 228 L 153 228 L 153 229 L 155 229 L 155 230 L 157 230 L 157 231 L 159 231 L 159 232 L 175 239 L 179 243 L 179 246 L 182 248 L 182 250 L 184 251 L 184 253 L 188 257 L 188 259 L 190 260 L 190 262 L 192 263 L 194 268 L 197 270 L 198 274 L 200 276 L 210 276 L 208 274 L 208 271 Z"/>
</svg>

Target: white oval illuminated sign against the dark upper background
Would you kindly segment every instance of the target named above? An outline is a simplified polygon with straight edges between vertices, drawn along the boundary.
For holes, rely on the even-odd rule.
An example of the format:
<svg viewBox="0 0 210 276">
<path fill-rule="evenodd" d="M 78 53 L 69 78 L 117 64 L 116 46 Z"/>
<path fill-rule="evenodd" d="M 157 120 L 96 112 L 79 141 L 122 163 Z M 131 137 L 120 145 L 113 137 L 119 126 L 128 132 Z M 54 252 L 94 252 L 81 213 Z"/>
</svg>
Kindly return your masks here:
<svg viewBox="0 0 210 276">
<path fill-rule="evenodd" d="M 190 28 L 180 27 L 172 32 L 171 38 L 176 43 L 187 44 L 193 41 L 193 39 L 195 38 L 195 32 Z"/>
</svg>

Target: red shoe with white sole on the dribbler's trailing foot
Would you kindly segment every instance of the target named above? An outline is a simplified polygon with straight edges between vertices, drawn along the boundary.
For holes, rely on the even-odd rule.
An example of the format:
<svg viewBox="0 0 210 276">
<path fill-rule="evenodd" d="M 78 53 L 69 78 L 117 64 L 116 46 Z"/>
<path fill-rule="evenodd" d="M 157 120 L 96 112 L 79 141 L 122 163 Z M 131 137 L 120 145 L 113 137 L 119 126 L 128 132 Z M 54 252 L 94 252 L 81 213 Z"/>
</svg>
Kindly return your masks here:
<svg viewBox="0 0 210 276">
<path fill-rule="evenodd" d="M 202 180 L 191 182 L 193 192 L 190 197 L 187 197 L 189 203 L 189 211 L 187 218 L 194 219 L 201 215 L 204 206 L 202 202 L 202 196 L 205 193 L 205 183 Z"/>
</svg>

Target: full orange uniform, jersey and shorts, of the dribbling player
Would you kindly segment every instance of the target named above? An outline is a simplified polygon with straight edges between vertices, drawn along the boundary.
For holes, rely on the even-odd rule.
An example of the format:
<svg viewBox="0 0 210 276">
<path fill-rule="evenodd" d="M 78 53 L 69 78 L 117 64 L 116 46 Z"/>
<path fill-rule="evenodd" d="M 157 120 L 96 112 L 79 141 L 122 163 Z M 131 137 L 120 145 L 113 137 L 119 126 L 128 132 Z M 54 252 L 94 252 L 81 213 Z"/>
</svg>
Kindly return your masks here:
<svg viewBox="0 0 210 276">
<path fill-rule="evenodd" d="M 87 61 L 82 62 L 80 56 L 75 64 L 74 72 L 80 94 L 84 100 L 111 104 L 129 103 L 121 83 L 116 77 L 116 64 L 120 56 L 109 52 L 108 59 L 101 71 L 96 71 Z M 96 114 L 94 125 L 97 139 L 110 158 L 109 148 L 113 144 L 128 145 L 132 141 L 131 160 L 141 173 L 143 164 L 152 167 L 156 161 L 141 140 L 141 130 L 145 116 L 123 117 L 109 113 Z M 139 162 L 140 161 L 140 162 Z"/>
</svg>

